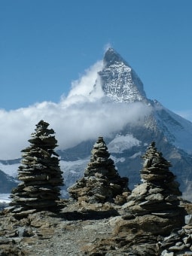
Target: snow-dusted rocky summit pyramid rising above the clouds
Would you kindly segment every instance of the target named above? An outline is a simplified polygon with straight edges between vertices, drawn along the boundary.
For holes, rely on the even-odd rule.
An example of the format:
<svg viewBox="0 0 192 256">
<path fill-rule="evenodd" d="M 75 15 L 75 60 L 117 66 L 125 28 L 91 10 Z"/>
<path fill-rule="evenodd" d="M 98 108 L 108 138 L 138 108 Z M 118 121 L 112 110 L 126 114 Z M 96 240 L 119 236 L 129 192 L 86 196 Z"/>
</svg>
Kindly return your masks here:
<svg viewBox="0 0 192 256">
<path fill-rule="evenodd" d="M 108 48 L 103 58 L 104 68 L 99 72 L 102 90 L 115 102 L 145 101 L 143 84 L 136 72 L 114 49 Z"/>
</svg>

